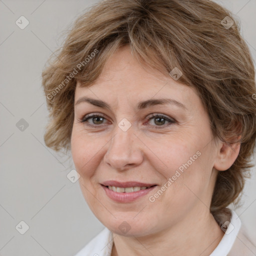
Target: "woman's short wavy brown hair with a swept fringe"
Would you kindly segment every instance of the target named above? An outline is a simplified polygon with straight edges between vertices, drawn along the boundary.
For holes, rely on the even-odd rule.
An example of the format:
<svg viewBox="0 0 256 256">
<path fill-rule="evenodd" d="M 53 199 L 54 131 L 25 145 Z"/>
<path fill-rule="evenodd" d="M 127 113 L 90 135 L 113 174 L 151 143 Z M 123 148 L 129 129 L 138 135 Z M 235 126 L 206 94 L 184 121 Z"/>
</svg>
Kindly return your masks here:
<svg viewBox="0 0 256 256">
<path fill-rule="evenodd" d="M 234 23 L 227 27 L 227 21 Z M 236 160 L 218 172 L 210 210 L 238 202 L 256 139 L 254 66 L 239 30 L 233 15 L 210 0 L 97 3 L 76 19 L 42 72 L 51 117 L 45 144 L 70 149 L 76 82 L 92 84 L 108 57 L 128 44 L 141 63 L 167 75 L 174 67 L 182 70 L 179 81 L 196 88 L 214 137 L 231 145 L 241 135 Z"/>
</svg>

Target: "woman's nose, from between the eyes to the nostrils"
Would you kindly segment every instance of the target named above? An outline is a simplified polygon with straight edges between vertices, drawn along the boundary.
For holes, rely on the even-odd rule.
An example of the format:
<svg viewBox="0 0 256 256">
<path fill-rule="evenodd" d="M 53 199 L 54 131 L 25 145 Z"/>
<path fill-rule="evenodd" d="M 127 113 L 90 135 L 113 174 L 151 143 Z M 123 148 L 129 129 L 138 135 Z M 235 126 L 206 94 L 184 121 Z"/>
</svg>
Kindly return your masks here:
<svg viewBox="0 0 256 256">
<path fill-rule="evenodd" d="M 104 155 L 107 165 L 116 170 L 127 170 L 139 165 L 143 161 L 143 153 L 140 148 L 142 142 L 133 133 L 132 126 L 123 131 L 118 126 L 114 131 L 108 148 Z"/>
</svg>

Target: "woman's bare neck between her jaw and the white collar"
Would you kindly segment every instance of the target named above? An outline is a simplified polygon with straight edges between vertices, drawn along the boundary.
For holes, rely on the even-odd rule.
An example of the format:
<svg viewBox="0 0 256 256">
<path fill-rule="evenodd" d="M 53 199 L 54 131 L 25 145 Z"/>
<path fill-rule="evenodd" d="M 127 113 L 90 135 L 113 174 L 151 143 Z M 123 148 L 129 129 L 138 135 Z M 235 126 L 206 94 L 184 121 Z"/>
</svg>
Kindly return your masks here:
<svg viewBox="0 0 256 256">
<path fill-rule="evenodd" d="M 201 211 L 194 213 L 187 215 L 181 223 L 150 235 L 135 237 L 114 233 L 111 256 L 208 256 L 224 232 L 208 210 L 204 214 Z"/>
</svg>

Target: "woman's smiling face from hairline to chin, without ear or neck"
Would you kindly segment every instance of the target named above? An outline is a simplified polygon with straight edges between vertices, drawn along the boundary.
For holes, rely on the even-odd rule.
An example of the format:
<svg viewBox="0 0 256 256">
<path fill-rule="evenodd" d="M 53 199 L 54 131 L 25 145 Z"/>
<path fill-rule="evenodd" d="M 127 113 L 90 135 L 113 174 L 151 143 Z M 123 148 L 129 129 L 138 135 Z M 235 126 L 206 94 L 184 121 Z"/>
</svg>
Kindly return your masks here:
<svg viewBox="0 0 256 256">
<path fill-rule="evenodd" d="M 77 83 L 74 102 L 72 158 L 106 227 L 140 236 L 209 212 L 217 149 L 193 88 L 144 69 L 123 47 L 93 85 Z"/>
</svg>

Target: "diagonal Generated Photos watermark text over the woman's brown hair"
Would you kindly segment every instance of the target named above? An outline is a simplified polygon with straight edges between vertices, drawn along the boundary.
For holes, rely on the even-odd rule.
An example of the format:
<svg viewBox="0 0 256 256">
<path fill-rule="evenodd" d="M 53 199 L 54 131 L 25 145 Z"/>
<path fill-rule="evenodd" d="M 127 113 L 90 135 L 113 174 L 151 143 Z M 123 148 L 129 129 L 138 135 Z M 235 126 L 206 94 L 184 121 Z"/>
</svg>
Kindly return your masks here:
<svg viewBox="0 0 256 256">
<path fill-rule="evenodd" d="M 96 55 L 96 53 L 98 53 L 98 50 L 94 49 L 83 61 L 80 61 L 76 67 L 73 68 L 73 71 L 66 75 L 66 78 L 54 90 L 46 95 L 47 99 L 52 99 L 74 77 L 74 75 L 78 73 L 78 70 L 81 70 L 81 68 Z"/>
</svg>

